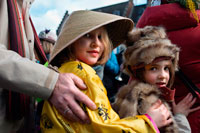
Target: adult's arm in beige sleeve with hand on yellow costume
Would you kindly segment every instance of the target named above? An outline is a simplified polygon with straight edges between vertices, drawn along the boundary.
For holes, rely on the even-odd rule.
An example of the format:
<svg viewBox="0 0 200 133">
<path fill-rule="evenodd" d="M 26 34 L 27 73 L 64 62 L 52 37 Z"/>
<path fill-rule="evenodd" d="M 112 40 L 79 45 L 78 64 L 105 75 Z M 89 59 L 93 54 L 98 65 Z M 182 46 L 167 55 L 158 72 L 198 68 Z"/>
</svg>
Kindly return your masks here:
<svg viewBox="0 0 200 133">
<path fill-rule="evenodd" d="M 76 101 L 85 103 L 91 109 L 94 109 L 95 105 L 79 91 L 75 84 L 80 89 L 86 88 L 84 83 L 73 74 L 59 75 L 43 65 L 7 50 L 4 45 L 0 45 L 0 88 L 42 99 L 50 98 L 51 103 L 60 112 L 70 105 L 72 113 L 62 114 L 70 120 L 78 121 L 80 119 L 87 122 L 87 115 L 80 109 Z"/>
</svg>

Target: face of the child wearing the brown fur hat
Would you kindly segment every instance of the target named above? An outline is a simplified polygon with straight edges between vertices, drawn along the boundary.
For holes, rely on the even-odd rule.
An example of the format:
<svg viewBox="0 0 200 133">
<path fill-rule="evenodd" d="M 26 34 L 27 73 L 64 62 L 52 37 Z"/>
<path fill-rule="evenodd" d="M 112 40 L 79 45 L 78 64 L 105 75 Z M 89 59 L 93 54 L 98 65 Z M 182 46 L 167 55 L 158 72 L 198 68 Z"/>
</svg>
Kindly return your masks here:
<svg viewBox="0 0 200 133">
<path fill-rule="evenodd" d="M 145 66 L 144 79 L 147 83 L 166 87 L 170 79 L 171 60 L 162 60 Z"/>
</svg>

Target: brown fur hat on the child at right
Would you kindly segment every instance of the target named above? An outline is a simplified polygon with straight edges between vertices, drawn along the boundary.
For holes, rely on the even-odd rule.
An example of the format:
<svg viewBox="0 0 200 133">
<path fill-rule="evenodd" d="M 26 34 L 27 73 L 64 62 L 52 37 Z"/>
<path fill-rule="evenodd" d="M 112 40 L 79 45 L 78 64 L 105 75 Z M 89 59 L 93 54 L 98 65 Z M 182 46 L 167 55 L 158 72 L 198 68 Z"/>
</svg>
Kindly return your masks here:
<svg viewBox="0 0 200 133">
<path fill-rule="evenodd" d="M 180 49 L 167 39 L 164 28 L 147 26 L 143 29 L 134 29 L 129 33 L 127 42 L 124 68 L 129 75 L 133 76 L 133 69 L 142 68 L 158 57 L 170 58 L 174 69 L 178 70 Z"/>
</svg>

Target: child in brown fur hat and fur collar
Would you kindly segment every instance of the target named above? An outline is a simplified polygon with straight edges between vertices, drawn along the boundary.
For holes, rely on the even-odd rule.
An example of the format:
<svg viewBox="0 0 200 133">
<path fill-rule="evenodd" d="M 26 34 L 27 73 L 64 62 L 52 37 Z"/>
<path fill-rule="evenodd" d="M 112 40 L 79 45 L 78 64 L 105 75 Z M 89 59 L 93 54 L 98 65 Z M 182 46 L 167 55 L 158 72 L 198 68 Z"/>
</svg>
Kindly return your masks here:
<svg viewBox="0 0 200 133">
<path fill-rule="evenodd" d="M 124 66 L 132 81 L 119 90 L 113 104 L 120 118 L 146 113 L 148 106 L 160 95 L 165 101 L 173 102 L 175 90 L 170 88 L 175 70 L 178 70 L 179 48 L 166 38 L 163 28 L 147 26 L 136 29 L 129 34 L 127 42 Z M 188 94 L 178 105 L 173 102 L 178 132 L 191 132 L 186 116 L 200 109 L 190 109 L 195 100 Z M 170 132 L 177 131 L 176 126 L 169 128 Z"/>
</svg>

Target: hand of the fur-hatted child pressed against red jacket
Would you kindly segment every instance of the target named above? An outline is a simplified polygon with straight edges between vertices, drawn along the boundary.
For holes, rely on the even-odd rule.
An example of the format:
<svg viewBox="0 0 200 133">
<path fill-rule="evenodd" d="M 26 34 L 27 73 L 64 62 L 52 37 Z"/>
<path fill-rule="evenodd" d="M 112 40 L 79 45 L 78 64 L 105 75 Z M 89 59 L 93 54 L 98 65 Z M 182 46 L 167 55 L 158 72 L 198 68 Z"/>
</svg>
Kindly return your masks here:
<svg viewBox="0 0 200 133">
<path fill-rule="evenodd" d="M 187 94 L 187 96 L 184 97 L 183 100 L 181 100 L 178 104 L 176 104 L 175 102 L 172 103 L 174 114 L 180 113 L 188 116 L 189 113 L 199 110 L 200 106 L 190 109 L 195 102 L 196 98 L 193 98 L 191 93 Z"/>
</svg>

